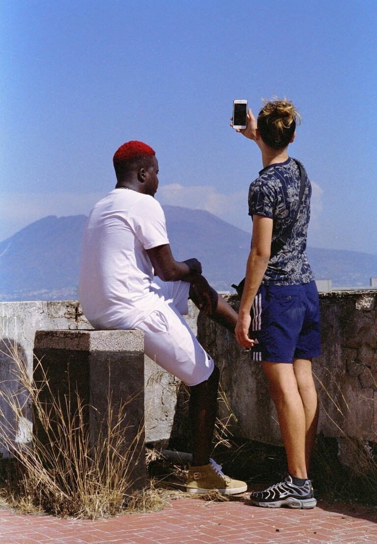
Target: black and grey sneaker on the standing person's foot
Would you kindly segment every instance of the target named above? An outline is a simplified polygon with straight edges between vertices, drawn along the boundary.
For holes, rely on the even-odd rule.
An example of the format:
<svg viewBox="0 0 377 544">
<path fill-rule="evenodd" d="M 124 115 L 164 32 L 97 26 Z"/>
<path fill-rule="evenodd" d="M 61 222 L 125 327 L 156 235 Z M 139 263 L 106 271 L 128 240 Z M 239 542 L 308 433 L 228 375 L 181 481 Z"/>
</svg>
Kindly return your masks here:
<svg viewBox="0 0 377 544">
<path fill-rule="evenodd" d="M 254 491 L 250 495 L 250 500 L 255 506 L 265 508 L 280 508 L 284 505 L 289 508 L 314 508 L 317 504 L 311 481 L 306 480 L 305 484 L 297 486 L 289 474 L 284 481 L 272 485 L 265 491 Z"/>
</svg>

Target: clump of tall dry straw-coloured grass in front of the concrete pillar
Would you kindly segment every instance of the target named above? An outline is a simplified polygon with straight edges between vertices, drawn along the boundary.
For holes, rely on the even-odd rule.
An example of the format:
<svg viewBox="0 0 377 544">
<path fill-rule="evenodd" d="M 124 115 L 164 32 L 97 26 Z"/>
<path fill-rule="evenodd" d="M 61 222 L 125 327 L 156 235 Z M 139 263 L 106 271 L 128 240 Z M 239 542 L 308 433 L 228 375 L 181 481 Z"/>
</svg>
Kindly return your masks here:
<svg viewBox="0 0 377 544">
<path fill-rule="evenodd" d="M 161 491 L 150 489 L 132 493 L 132 469 L 143 448 L 138 442 L 143 436 L 139 429 L 132 443 L 126 440 L 127 401 L 116 413 L 108 396 L 107 418 L 100 423 L 98 440 L 90 444 L 88 426 L 84 422 L 83 405 L 76 393 L 74 415 L 71 397 L 63 401 L 54 397 L 46 375 L 36 387 L 27 373 L 26 362 L 17 346 L 6 344 L 5 353 L 14 362 L 14 376 L 3 382 L 0 397 L 15 415 L 15 424 L 0 410 L 0 440 L 11 453 L 7 461 L 7 475 L 2 496 L 17 510 L 28 513 L 47 512 L 56 516 L 96 518 L 114 516 L 131 509 L 160 508 Z M 39 363 L 40 364 L 40 363 Z M 14 391 L 14 382 L 19 384 Z M 44 388 L 51 402 L 40 400 Z M 28 395 L 34 406 L 44 436 L 43 442 L 33 433 L 29 423 L 25 429 L 25 405 L 20 403 L 20 390 Z M 25 395 L 24 395 L 25 396 Z M 71 393 L 72 396 L 72 393 Z M 17 422 L 23 422 L 23 436 L 32 438 L 27 443 L 17 442 Z M 18 430 L 19 432 L 19 430 Z M 16 438 L 16 441 L 15 441 Z"/>
</svg>

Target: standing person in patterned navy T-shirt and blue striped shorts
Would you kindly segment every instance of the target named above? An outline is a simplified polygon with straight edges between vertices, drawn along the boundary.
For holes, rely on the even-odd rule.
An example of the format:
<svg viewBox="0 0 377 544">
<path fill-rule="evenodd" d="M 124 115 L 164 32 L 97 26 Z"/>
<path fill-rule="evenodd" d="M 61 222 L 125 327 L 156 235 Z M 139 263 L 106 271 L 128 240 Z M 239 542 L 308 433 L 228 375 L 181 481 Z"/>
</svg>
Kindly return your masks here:
<svg viewBox="0 0 377 544">
<path fill-rule="evenodd" d="M 294 105 L 276 99 L 265 102 L 258 120 L 249 110 L 238 131 L 256 142 L 263 163 L 249 190 L 253 235 L 235 333 L 263 366 L 287 453 L 287 478 L 251 493 L 254 505 L 270 508 L 316 504 L 308 467 L 318 422 L 312 357 L 321 351 L 319 300 L 306 255 L 311 184 L 288 156 L 296 119 Z"/>
</svg>

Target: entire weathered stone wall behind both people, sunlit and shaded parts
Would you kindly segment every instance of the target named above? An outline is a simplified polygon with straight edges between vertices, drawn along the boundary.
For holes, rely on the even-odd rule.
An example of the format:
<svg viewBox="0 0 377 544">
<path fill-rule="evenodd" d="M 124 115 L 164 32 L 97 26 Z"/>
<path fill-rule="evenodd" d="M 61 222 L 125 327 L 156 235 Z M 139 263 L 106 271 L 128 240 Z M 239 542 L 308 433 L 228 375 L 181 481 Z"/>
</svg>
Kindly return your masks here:
<svg viewBox="0 0 377 544">
<path fill-rule="evenodd" d="M 227 297 L 237 307 L 235 295 Z M 340 459 L 351 462 L 358 448 L 377 442 L 377 293 L 320 294 L 323 355 L 313 362 L 320 398 L 318 432 L 337 438 Z M 32 369 L 35 330 L 87 329 L 76 301 L 0 303 L 2 337 L 16 343 Z M 190 305 L 187 322 L 221 369 L 221 381 L 240 434 L 264 443 L 281 444 L 275 407 L 258 363 L 240 348 L 234 335 L 199 316 Z M 13 391 L 12 362 L 0 354 L 0 379 Z M 177 418 L 179 382 L 153 361 L 145 360 L 145 426 L 148 442 L 168 440 Z M 21 393 L 20 393 L 21 394 Z M 2 407 L 6 411 L 6 407 Z M 221 404 L 222 415 L 228 412 Z M 26 410 L 25 417 L 29 417 Z M 11 413 L 6 413 L 11 418 Z M 21 426 L 20 426 L 21 425 Z M 22 438 L 22 422 L 19 422 Z M 20 440 L 21 440 L 20 438 Z M 352 445 L 354 444 L 354 445 Z"/>
</svg>

